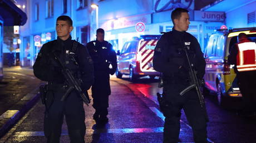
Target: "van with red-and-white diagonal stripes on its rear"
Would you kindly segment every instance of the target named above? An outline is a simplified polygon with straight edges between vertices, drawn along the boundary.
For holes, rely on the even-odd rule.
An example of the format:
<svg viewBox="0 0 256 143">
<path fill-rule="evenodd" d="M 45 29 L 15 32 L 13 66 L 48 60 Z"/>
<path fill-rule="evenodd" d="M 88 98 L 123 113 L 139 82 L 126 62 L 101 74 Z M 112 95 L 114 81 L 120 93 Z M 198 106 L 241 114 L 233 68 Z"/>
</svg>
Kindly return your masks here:
<svg viewBox="0 0 256 143">
<path fill-rule="evenodd" d="M 149 75 L 151 79 L 159 76 L 159 72 L 153 69 L 152 60 L 154 49 L 161 35 L 141 35 L 140 38 L 126 42 L 117 52 L 116 77 L 129 75 L 130 81 L 134 81 L 141 76 Z"/>
</svg>

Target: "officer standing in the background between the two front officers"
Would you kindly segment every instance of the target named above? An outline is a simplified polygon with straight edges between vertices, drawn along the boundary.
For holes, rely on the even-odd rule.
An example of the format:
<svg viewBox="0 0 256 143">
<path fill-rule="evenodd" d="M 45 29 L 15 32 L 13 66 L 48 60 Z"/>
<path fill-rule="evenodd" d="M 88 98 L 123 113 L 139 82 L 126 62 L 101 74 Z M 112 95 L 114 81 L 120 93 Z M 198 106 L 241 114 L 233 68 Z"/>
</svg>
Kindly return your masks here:
<svg viewBox="0 0 256 143">
<path fill-rule="evenodd" d="M 100 124 L 106 124 L 109 121 L 107 118 L 109 95 L 111 94 L 109 74 L 113 75 L 117 68 L 116 53 L 112 49 L 112 45 L 104 40 L 104 34 L 104 29 L 97 29 L 96 40 L 86 45 L 94 65 L 95 82 L 92 85 L 92 106 L 95 109 L 95 114 L 93 114 L 93 119 Z"/>
</svg>

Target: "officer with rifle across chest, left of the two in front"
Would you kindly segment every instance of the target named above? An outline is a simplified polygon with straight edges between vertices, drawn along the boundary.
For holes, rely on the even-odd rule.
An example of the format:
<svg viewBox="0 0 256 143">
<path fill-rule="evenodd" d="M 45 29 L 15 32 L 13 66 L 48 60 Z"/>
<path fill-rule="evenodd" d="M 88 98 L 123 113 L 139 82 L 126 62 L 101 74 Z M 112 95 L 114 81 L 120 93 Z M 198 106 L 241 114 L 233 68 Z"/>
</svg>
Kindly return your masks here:
<svg viewBox="0 0 256 143">
<path fill-rule="evenodd" d="M 85 142 L 85 111 L 83 101 L 77 91 L 72 90 L 67 98 L 62 96 L 69 88 L 55 55 L 75 78 L 82 80 L 82 90 L 87 92 L 93 83 L 93 63 L 87 49 L 75 40 L 71 40 L 72 19 L 60 16 L 56 21 L 57 40 L 43 44 L 37 55 L 33 71 L 38 79 L 48 81 L 46 93 L 46 111 L 44 131 L 47 142 L 60 142 L 63 116 L 65 115 L 68 135 L 71 142 Z M 75 44 L 77 46 L 75 46 Z M 72 60 L 71 56 L 75 58 Z"/>
</svg>

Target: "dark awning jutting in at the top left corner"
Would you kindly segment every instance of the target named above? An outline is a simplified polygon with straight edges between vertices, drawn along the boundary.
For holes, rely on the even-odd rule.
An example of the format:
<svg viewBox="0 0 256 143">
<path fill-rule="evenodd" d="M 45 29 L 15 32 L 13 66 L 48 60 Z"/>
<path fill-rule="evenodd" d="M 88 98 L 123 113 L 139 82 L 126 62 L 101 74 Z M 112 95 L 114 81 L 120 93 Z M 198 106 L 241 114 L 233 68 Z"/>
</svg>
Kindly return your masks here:
<svg viewBox="0 0 256 143">
<path fill-rule="evenodd" d="M 27 14 L 10 0 L 0 0 L 0 16 L 4 26 L 24 25 L 27 22 Z"/>
</svg>

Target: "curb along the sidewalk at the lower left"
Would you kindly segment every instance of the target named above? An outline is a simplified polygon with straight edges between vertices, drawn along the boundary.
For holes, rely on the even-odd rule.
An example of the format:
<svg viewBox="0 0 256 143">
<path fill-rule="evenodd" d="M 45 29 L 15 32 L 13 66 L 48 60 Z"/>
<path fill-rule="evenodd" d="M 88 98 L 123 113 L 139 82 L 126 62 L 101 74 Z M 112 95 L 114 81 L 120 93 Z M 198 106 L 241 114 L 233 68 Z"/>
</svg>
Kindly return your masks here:
<svg viewBox="0 0 256 143">
<path fill-rule="evenodd" d="M 28 93 L 26 96 L 24 96 L 21 101 L 19 101 L 16 105 L 19 105 L 21 108 L 19 110 L 7 110 L 6 113 L 2 114 L 0 116 L 0 119 L 3 119 L 3 126 L 0 129 L 0 138 L 6 134 L 6 132 L 11 129 L 11 127 L 16 124 L 16 122 L 21 119 L 29 109 L 33 107 L 40 98 L 39 93 L 35 93 L 34 91 L 37 91 L 38 88 L 32 91 L 32 93 Z M 11 116 L 8 116 L 8 114 L 12 114 Z"/>
</svg>

